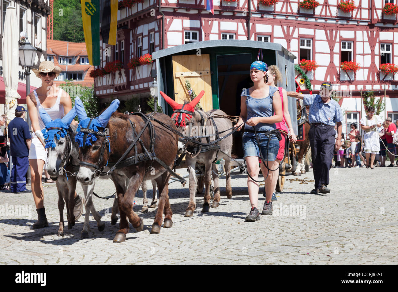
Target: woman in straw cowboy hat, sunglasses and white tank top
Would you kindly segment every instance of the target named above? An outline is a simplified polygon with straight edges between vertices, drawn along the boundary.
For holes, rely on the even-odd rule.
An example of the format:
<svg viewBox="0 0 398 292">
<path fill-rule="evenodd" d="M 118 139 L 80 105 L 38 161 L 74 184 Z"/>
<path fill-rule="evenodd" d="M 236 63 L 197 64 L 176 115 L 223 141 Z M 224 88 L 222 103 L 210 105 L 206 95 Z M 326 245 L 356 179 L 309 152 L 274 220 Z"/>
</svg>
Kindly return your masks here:
<svg viewBox="0 0 398 292">
<path fill-rule="evenodd" d="M 26 105 L 32 122 L 32 143 L 29 149 L 29 165 L 31 170 L 32 193 L 35 200 L 37 215 L 39 219 L 33 224 L 33 228 L 48 226 L 45 208 L 44 193 L 41 184 L 43 166 L 47 161 L 44 137 L 41 130 L 45 127 L 39 115 L 39 107 L 43 108 L 53 120 L 62 118 L 72 109 L 72 101 L 68 93 L 57 87 L 53 81 L 61 72 L 59 66 L 51 61 L 40 63 L 39 69 L 32 69 L 37 77 L 41 79 L 41 87 L 32 91 L 26 97 Z M 80 217 L 83 211 L 83 202 L 75 193 L 75 219 Z"/>
</svg>

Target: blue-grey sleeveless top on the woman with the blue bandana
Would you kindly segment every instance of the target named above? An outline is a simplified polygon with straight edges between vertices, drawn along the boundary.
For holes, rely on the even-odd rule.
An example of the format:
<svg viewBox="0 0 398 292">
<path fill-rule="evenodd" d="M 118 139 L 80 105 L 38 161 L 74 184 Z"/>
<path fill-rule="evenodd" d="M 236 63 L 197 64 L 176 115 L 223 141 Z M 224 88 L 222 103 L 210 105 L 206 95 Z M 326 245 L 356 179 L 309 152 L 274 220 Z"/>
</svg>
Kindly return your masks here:
<svg viewBox="0 0 398 292">
<path fill-rule="evenodd" d="M 269 87 L 269 95 L 262 99 L 256 99 L 249 95 L 249 89 L 242 91 L 242 96 L 246 96 L 246 108 L 248 112 L 247 119 L 250 118 L 268 118 L 274 115 L 272 106 L 273 95 L 276 91 L 279 91 L 277 87 Z M 245 124 L 245 129 L 256 130 L 256 131 L 271 131 L 275 130 L 275 124 L 259 123 L 257 126 L 248 126 Z M 254 133 L 244 132 L 244 136 L 254 136 Z"/>
</svg>

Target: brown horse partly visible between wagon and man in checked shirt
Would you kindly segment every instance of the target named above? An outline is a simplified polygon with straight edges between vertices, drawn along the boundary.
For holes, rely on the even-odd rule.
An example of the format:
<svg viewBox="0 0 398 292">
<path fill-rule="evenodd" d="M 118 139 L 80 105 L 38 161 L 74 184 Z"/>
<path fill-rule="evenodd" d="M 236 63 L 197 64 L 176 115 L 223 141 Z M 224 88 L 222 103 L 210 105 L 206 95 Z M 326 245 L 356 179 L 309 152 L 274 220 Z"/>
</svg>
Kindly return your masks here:
<svg viewBox="0 0 398 292">
<path fill-rule="evenodd" d="M 293 175 L 300 176 L 301 174 L 305 174 L 305 164 L 306 161 L 309 163 L 309 157 L 311 153 L 310 147 L 310 138 L 308 136 L 308 131 L 311 128 L 310 123 L 308 122 L 308 113 L 309 109 L 306 106 L 302 105 L 301 100 L 297 100 L 297 126 L 298 126 L 298 135 L 297 135 L 297 144 L 300 146 L 300 150 L 297 153 L 297 168 Z"/>
</svg>

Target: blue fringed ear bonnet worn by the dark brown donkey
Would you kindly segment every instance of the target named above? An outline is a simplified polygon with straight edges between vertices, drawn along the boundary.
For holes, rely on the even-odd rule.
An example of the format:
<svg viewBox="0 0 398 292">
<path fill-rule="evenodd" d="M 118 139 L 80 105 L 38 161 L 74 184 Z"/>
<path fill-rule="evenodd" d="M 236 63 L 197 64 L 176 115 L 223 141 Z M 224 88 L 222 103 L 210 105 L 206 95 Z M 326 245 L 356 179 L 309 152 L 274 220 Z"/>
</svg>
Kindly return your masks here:
<svg viewBox="0 0 398 292">
<path fill-rule="evenodd" d="M 94 131 L 99 131 L 98 128 L 105 128 L 108 124 L 109 119 L 111 118 L 111 114 L 117 110 L 119 107 L 120 101 L 119 99 L 115 99 L 111 102 L 111 105 L 108 106 L 106 110 L 103 111 L 100 116 L 94 118 L 91 121 L 90 129 Z M 83 145 L 83 136 L 84 133 L 80 131 L 81 128 L 87 128 L 88 123 L 90 122 L 90 118 L 88 118 L 86 110 L 84 109 L 83 102 L 76 97 L 75 99 L 75 107 L 76 114 L 79 118 L 79 126 L 77 127 L 77 134 L 75 135 L 75 141 L 79 144 L 79 147 L 92 145 L 92 142 L 97 141 L 97 137 L 94 134 L 87 134 L 86 143 Z"/>
</svg>

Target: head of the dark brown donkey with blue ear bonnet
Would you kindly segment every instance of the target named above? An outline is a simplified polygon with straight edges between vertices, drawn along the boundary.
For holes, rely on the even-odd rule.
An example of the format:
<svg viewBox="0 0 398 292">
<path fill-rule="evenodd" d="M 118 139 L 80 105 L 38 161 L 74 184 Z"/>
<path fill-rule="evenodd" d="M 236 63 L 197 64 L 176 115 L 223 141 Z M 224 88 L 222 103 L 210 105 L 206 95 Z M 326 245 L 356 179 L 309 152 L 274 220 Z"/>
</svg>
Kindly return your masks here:
<svg viewBox="0 0 398 292">
<path fill-rule="evenodd" d="M 113 112 L 119 107 L 119 100 L 115 99 L 100 116 L 89 118 L 84 109 L 83 102 L 76 97 L 76 114 L 79 126 L 75 141 L 80 149 L 80 168 L 77 179 L 85 185 L 92 184 L 94 174 L 107 164 L 111 145 L 105 128 Z"/>
</svg>

